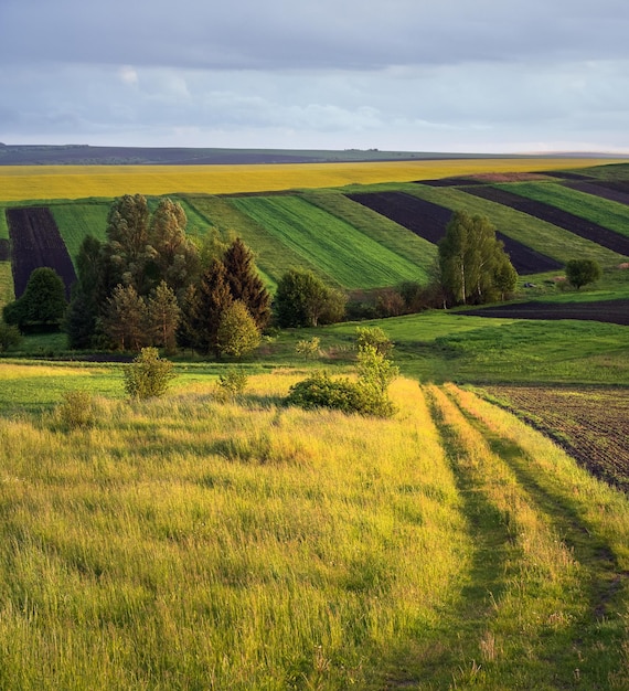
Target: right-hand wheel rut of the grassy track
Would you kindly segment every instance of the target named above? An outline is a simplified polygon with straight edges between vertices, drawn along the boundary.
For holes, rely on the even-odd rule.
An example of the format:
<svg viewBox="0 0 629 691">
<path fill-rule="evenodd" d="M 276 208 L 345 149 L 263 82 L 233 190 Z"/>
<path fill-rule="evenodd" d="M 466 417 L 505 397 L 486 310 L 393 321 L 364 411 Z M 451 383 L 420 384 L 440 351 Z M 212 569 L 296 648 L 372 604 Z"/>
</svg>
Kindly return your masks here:
<svg viewBox="0 0 629 691">
<path fill-rule="evenodd" d="M 542 485 L 526 451 L 455 402 L 466 419 L 482 434 L 492 453 L 508 464 L 530 501 L 561 535 L 579 564 L 587 613 L 572 623 L 571 637 L 580 660 L 580 684 L 588 689 L 618 688 L 609 685 L 609 678 L 610 670 L 622 669 L 625 662 L 626 626 L 619 610 L 625 607 L 621 597 L 629 585 L 629 573 L 620 567 L 614 550 L 593 533 L 576 508 Z M 551 641 L 547 648 L 551 653 Z"/>
</svg>

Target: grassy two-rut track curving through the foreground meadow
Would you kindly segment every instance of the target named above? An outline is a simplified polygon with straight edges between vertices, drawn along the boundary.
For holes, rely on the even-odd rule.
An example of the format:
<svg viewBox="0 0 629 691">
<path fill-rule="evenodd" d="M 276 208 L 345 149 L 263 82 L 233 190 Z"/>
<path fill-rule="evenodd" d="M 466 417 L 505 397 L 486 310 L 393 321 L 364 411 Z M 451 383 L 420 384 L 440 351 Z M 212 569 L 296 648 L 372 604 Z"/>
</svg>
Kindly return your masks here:
<svg viewBox="0 0 629 691">
<path fill-rule="evenodd" d="M 425 391 L 473 555 L 458 605 L 386 688 L 627 688 L 629 573 L 615 545 L 494 423 L 492 406 L 452 385 Z"/>
</svg>

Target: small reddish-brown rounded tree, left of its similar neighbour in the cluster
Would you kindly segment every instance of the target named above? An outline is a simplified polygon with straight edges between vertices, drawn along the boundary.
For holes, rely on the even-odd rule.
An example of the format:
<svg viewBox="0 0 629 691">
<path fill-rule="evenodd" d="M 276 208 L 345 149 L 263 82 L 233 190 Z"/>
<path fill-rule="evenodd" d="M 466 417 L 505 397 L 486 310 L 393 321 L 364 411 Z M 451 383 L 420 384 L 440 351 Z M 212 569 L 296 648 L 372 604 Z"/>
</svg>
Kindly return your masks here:
<svg viewBox="0 0 629 691">
<path fill-rule="evenodd" d="M 121 350 L 140 350 L 149 342 L 148 310 L 134 286 L 118 285 L 107 299 L 103 330 Z"/>
</svg>

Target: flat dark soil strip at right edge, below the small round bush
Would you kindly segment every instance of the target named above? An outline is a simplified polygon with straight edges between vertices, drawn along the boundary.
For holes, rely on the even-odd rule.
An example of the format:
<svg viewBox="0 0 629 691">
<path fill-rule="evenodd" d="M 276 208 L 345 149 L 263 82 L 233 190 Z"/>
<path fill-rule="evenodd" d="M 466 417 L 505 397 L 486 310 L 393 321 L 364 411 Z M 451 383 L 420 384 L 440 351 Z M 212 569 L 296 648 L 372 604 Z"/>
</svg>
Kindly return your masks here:
<svg viewBox="0 0 629 691">
<path fill-rule="evenodd" d="M 600 302 L 520 302 L 497 305 L 484 309 L 460 312 L 471 317 L 501 317 L 503 319 L 582 319 L 629 326 L 629 300 Z"/>
</svg>

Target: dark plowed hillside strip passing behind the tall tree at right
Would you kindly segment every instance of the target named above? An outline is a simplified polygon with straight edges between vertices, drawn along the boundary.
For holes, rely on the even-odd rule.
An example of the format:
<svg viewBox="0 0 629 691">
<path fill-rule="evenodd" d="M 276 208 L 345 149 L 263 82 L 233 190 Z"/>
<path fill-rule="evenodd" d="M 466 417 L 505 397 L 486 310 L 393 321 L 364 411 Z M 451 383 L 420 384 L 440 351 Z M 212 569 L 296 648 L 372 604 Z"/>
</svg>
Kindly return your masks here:
<svg viewBox="0 0 629 691">
<path fill-rule="evenodd" d="M 348 198 L 395 221 L 395 223 L 434 244 L 444 237 L 446 226 L 452 217 L 450 209 L 404 192 L 348 194 Z M 563 266 L 559 262 L 535 252 L 502 233 L 497 233 L 495 236 L 504 243 L 504 249 L 509 254 L 513 267 L 521 276 L 552 272 Z"/>
</svg>

